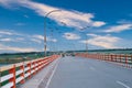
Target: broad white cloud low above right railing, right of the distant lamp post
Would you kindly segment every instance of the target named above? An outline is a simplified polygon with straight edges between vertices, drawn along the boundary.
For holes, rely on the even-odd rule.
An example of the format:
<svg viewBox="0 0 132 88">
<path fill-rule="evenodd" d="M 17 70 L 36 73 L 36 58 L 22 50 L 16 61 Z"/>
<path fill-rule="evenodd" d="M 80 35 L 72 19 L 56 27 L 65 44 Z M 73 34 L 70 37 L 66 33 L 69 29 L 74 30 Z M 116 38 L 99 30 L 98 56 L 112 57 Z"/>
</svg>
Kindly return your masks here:
<svg viewBox="0 0 132 88">
<path fill-rule="evenodd" d="M 117 36 L 111 35 L 96 35 L 96 34 L 88 34 L 91 36 L 89 40 L 81 41 L 81 43 L 88 43 L 90 45 L 100 46 L 103 48 L 118 48 L 116 44 L 121 40 Z"/>
</svg>

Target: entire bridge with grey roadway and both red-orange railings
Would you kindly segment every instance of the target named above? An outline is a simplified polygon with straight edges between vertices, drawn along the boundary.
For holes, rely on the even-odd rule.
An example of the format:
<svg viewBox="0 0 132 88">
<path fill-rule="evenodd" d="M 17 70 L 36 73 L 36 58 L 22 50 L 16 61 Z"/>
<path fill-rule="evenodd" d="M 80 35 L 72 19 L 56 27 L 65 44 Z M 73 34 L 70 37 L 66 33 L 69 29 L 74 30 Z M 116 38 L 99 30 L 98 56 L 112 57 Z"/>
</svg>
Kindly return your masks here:
<svg viewBox="0 0 132 88">
<path fill-rule="evenodd" d="M 131 55 L 52 55 L 0 72 L 0 88 L 132 88 Z"/>
</svg>

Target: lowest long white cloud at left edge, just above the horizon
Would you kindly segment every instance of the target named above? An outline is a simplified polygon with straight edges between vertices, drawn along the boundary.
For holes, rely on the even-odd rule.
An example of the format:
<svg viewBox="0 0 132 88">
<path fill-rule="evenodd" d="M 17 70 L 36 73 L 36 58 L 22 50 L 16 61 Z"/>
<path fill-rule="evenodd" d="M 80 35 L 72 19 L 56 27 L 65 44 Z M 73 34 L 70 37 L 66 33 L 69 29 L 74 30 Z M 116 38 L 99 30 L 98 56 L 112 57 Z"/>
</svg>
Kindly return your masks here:
<svg viewBox="0 0 132 88">
<path fill-rule="evenodd" d="M 30 48 L 30 47 L 13 47 L 13 46 L 6 46 L 0 44 L 1 51 L 13 51 L 13 52 L 38 52 L 38 50 Z"/>
</svg>

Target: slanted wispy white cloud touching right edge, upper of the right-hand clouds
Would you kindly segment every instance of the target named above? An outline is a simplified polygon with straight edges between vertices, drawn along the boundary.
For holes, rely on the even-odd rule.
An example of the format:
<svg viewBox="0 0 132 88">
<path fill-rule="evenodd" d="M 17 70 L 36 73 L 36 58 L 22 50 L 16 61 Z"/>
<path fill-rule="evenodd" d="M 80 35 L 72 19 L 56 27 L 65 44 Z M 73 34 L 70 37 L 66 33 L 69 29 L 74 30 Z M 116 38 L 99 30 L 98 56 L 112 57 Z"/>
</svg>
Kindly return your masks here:
<svg viewBox="0 0 132 88">
<path fill-rule="evenodd" d="M 109 29 L 105 30 L 105 32 L 107 33 L 111 33 L 111 32 L 122 32 L 125 30 L 132 30 L 132 24 L 120 24 L 120 25 L 116 25 L 116 26 L 110 26 Z"/>
</svg>

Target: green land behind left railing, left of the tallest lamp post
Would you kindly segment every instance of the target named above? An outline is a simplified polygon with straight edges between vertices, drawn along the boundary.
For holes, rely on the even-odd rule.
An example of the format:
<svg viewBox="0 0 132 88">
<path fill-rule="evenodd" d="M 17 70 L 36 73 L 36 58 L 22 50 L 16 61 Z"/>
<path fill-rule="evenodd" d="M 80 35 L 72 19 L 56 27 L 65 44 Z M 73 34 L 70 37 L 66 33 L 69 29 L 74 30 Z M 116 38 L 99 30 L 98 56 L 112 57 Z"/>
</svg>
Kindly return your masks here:
<svg viewBox="0 0 132 88">
<path fill-rule="evenodd" d="M 43 57 L 42 53 L 0 54 L 1 64 L 13 64 Z"/>
</svg>

